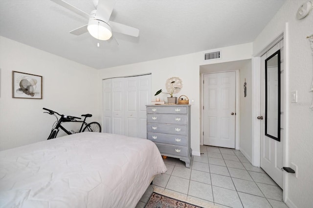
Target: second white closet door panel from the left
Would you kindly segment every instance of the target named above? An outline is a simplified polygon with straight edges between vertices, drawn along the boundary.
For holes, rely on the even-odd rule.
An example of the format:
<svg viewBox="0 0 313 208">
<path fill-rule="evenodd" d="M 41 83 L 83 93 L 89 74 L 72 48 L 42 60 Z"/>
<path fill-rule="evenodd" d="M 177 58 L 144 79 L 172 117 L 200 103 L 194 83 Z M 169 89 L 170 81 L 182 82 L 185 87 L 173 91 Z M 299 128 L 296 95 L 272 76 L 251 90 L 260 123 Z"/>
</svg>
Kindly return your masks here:
<svg viewBox="0 0 313 208">
<path fill-rule="evenodd" d="M 124 78 L 112 79 L 112 133 L 124 135 Z"/>
</svg>

